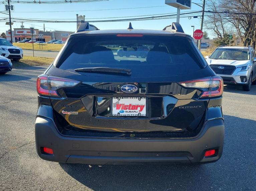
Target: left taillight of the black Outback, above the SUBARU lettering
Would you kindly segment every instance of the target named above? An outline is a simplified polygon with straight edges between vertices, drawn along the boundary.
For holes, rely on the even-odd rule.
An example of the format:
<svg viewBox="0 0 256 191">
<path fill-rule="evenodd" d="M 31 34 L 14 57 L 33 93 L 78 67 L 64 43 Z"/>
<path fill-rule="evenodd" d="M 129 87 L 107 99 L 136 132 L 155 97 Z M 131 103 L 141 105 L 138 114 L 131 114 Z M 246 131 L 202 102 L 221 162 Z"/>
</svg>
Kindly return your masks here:
<svg viewBox="0 0 256 191">
<path fill-rule="evenodd" d="M 36 89 L 39 95 L 59 97 L 57 94 L 58 89 L 64 87 L 73 87 L 78 83 L 80 82 L 76 80 L 42 74 L 38 76 L 36 80 Z"/>
</svg>

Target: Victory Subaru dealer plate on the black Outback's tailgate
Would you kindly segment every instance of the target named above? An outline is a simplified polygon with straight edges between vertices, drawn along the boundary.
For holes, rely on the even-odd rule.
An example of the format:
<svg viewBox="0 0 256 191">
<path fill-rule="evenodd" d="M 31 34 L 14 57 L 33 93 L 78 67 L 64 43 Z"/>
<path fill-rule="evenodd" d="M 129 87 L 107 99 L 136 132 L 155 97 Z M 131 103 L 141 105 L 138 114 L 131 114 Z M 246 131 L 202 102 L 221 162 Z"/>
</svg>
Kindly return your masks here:
<svg viewBox="0 0 256 191">
<path fill-rule="evenodd" d="M 147 116 L 145 97 L 113 97 L 112 116 Z"/>
</svg>

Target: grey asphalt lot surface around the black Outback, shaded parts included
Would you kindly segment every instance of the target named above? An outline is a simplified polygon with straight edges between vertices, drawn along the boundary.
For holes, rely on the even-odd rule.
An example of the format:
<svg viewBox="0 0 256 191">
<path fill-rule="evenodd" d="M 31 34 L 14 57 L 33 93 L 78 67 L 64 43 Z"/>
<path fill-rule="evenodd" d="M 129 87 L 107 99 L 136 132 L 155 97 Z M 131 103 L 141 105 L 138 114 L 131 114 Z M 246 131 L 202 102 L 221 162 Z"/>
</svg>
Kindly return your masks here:
<svg viewBox="0 0 256 191">
<path fill-rule="evenodd" d="M 225 86 L 221 159 L 197 166 L 59 164 L 35 150 L 36 77 L 47 66 L 0 75 L 0 190 L 256 190 L 256 85 Z"/>
</svg>

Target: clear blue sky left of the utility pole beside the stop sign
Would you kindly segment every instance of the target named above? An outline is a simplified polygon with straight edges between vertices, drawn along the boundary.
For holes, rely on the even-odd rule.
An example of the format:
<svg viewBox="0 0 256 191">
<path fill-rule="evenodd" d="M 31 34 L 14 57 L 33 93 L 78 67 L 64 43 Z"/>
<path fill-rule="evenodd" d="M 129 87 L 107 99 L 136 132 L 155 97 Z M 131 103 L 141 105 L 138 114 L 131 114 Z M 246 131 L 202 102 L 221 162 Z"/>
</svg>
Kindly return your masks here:
<svg viewBox="0 0 256 191">
<path fill-rule="evenodd" d="M 195 3 L 202 3 L 201 0 L 193 0 Z M 15 18 L 34 18 L 34 19 L 76 19 L 76 14 L 85 15 L 86 18 L 104 18 L 104 17 L 125 17 L 125 16 L 140 16 L 152 14 L 171 14 L 176 13 L 177 9 L 171 6 L 165 6 L 165 0 L 109 0 L 101 2 L 90 3 L 67 3 L 67 4 L 21 4 L 13 3 L 14 11 L 11 13 Z M 135 7 L 151 7 L 163 6 L 155 8 L 141 8 L 141 9 L 123 9 L 123 10 L 104 10 L 104 11 L 80 11 L 80 10 L 98 10 L 98 9 L 118 9 L 118 8 L 135 8 Z M 202 8 L 192 4 L 191 10 L 196 11 Z M 4 5 L 1 5 L 0 10 L 4 10 Z M 38 13 L 37 11 L 66 11 L 66 12 L 47 12 Z M 73 12 L 69 12 L 73 11 Z M 36 13 L 35 13 L 36 12 Z M 1 18 L 8 17 L 8 15 L 0 14 Z M 89 20 L 89 19 L 88 19 Z M 97 19 L 98 20 L 98 19 Z M 5 21 L 6 22 L 6 21 Z M 5 32 L 9 29 L 5 22 L 0 22 L 0 32 Z M 176 22 L 175 19 L 163 20 L 149 20 L 149 21 L 132 21 L 133 28 L 135 29 L 157 29 L 162 30 L 165 26 L 171 25 Z M 185 33 L 192 35 L 193 28 L 200 28 L 201 19 L 181 18 L 180 23 Z M 92 23 L 99 29 L 126 29 L 129 25 L 128 21 L 125 22 L 106 22 L 106 23 Z M 20 28 L 21 22 L 15 22 L 13 28 Z M 43 23 L 23 23 L 25 28 L 34 27 L 35 29 L 43 30 Z M 46 30 L 67 30 L 75 31 L 75 23 L 45 23 Z"/>
</svg>

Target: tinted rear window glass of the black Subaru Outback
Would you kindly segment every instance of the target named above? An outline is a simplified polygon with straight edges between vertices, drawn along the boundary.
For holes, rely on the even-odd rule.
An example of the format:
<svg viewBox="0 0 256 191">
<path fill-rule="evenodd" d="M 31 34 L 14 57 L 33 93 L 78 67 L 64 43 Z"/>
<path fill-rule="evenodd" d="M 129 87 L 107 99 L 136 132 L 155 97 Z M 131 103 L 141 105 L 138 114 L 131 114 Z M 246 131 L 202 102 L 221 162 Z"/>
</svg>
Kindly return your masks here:
<svg viewBox="0 0 256 191">
<path fill-rule="evenodd" d="M 131 69 L 133 77 L 173 76 L 205 67 L 192 46 L 185 37 L 71 37 L 56 66 L 72 72 L 85 67 L 116 67 Z"/>
</svg>

